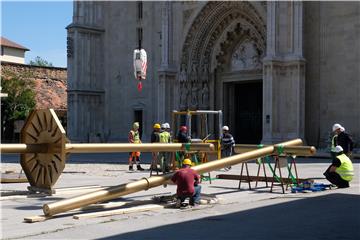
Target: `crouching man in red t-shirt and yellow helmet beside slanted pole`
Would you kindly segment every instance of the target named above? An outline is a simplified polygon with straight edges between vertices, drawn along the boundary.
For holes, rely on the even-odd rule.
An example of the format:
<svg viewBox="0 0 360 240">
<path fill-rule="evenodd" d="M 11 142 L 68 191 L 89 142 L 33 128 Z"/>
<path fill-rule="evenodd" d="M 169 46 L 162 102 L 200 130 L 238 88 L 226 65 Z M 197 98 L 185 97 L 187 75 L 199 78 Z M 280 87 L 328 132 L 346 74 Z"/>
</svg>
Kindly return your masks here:
<svg viewBox="0 0 360 240">
<path fill-rule="evenodd" d="M 191 160 L 188 158 L 184 159 L 182 168 L 177 170 L 174 176 L 171 178 L 171 181 L 177 185 L 177 207 L 181 207 L 186 198 L 190 198 L 189 204 L 191 206 L 200 203 L 200 175 L 190 167 Z"/>
</svg>

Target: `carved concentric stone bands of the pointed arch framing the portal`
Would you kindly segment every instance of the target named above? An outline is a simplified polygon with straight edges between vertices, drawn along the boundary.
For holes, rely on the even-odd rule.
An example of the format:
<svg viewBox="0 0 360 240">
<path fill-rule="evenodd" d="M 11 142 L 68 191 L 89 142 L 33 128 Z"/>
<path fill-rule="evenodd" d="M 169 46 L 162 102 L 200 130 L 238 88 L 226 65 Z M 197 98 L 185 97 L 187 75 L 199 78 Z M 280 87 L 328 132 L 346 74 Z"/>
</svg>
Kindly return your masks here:
<svg viewBox="0 0 360 240">
<path fill-rule="evenodd" d="M 262 56 L 265 23 L 250 2 L 209 2 L 200 11 L 185 38 L 181 53 L 180 108 L 207 109 L 215 68 L 228 57 L 241 38 L 252 39 Z M 231 46 L 231 47 L 230 47 Z M 229 48 L 230 47 L 230 48 Z"/>
</svg>

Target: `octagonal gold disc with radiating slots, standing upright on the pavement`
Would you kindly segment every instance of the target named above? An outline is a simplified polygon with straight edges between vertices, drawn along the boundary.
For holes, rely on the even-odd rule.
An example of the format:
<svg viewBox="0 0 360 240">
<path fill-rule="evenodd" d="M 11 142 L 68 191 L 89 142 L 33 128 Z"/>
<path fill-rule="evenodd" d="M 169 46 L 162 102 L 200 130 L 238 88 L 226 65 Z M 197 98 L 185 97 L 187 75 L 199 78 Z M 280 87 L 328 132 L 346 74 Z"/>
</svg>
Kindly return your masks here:
<svg viewBox="0 0 360 240">
<path fill-rule="evenodd" d="M 47 144 L 45 153 L 21 154 L 20 164 L 33 187 L 51 189 L 65 168 L 65 130 L 53 109 L 33 111 L 21 130 L 21 142 Z"/>
</svg>

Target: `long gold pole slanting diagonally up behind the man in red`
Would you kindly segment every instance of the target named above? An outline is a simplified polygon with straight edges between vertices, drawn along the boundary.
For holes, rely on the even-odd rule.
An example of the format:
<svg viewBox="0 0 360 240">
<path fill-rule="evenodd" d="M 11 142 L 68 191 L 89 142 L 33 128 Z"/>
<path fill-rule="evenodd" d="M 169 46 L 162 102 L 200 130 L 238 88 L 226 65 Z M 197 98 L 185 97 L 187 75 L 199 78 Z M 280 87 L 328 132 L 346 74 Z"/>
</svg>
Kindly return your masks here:
<svg viewBox="0 0 360 240">
<path fill-rule="evenodd" d="M 301 139 L 295 139 L 281 143 L 282 146 L 301 145 Z M 243 154 L 234 155 L 231 157 L 215 160 L 212 162 L 204 163 L 193 167 L 199 174 L 210 172 L 213 170 L 221 169 L 226 166 L 239 164 L 242 162 L 264 157 L 274 153 L 276 147 L 280 146 L 268 146 L 254 151 L 246 152 Z M 117 197 L 121 197 L 130 193 L 139 192 L 141 190 L 147 190 L 149 188 L 160 186 L 171 179 L 174 173 L 165 174 L 162 176 L 152 176 L 149 178 L 143 178 L 141 180 L 125 183 L 118 186 L 106 188 L 96 192 L 84 194 L 78 197 L 61 200 L 58 202 L 45 204 L 43 211 L 46 216 L 52 216 L 58 213 L 66 212 L 72 209 L 80 208 L 97 202 L 103 202 Z"/>
</svg>

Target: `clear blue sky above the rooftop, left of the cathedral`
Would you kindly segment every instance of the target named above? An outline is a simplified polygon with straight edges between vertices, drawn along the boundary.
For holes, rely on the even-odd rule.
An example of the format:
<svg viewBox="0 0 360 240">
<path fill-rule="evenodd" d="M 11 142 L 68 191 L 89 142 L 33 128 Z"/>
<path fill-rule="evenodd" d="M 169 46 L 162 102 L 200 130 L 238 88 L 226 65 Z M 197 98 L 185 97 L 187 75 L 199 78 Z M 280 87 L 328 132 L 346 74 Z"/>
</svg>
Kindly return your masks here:
<svg viewBox="0 0 360 240">
<path fill-rule="evenodd" d="M 72 22 L 73 1 L 1 1 L 1 36 L 28 49 L 25 63 L 37 56 L 66 67 L 65 27 Z"/>
</svg>

